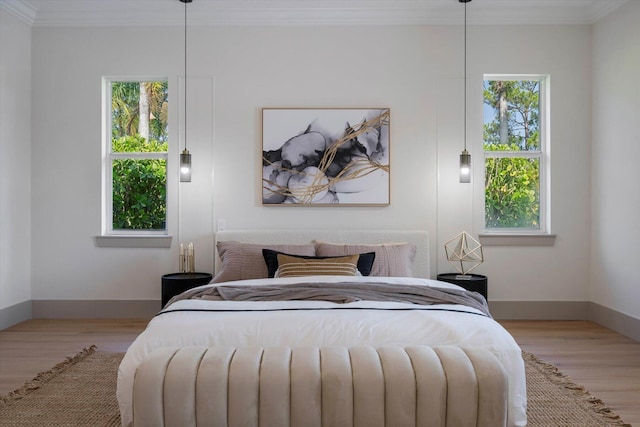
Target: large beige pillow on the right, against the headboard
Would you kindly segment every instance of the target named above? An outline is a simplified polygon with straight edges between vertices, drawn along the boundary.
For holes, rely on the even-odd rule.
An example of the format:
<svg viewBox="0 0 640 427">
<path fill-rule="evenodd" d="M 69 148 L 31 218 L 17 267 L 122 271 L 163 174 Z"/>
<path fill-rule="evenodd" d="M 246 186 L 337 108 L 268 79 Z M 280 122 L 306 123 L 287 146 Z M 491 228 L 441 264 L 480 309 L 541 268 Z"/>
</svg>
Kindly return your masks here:
<svg viewBox="0 0 640 427">
<path fill-rule="evenodd" d="M 347 245 L 316 242 L 316 256 L 344 256 L 364 252 L 376 253 L 369 276 L 413 277 L 413 259 L 416 257 L 415 245 L 409 243 Z"/>
</svg>

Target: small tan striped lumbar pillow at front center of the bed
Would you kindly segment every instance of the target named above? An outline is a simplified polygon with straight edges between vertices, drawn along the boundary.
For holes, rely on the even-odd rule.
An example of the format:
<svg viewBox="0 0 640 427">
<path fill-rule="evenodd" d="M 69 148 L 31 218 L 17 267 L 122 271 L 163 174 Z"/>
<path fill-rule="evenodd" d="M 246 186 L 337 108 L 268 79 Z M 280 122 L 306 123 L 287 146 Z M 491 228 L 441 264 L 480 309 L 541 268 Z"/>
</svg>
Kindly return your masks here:
<svg viewBox="0 0 640 427">
<path fill-rule="evenodd" d="M 359 255 L 338 258 L 302 258 L 278 254 L 278 271 L 275 277 L 299 276 L 356 276 Z"/>
</svg>

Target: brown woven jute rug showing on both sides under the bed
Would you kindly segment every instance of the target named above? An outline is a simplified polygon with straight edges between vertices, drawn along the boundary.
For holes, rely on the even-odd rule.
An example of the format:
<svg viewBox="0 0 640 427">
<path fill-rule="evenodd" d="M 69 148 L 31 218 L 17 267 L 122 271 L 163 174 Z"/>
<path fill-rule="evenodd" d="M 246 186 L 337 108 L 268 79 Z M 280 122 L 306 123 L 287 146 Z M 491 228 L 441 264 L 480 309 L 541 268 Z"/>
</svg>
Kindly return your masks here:
<svg viewBox="0 0 640 427">
<path fill-rule="evenodd" d="M 84 349 L 0 396 L 0 425 L 119 426 L 116 377 L 122 353 Z M 523 353 L 530 427 L 628 426 L 553 365 Z"/>
</svg>

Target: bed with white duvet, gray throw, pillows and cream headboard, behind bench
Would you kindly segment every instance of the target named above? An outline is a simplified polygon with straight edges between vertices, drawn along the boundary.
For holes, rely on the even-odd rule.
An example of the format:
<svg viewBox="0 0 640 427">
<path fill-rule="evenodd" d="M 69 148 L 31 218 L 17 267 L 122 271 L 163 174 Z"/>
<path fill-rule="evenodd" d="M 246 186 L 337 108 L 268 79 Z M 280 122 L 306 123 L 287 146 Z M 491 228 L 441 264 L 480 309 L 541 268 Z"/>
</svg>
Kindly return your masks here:
<svg viewBox="0 0 640 427">
<path fill-rule="evenodd" d="M 354 365 L 357 364 L 354 360 L 360 360 L 358 357 L 364 357 L 362 354 L 374 351 L 377 352 L 371 353 L 374 356 L 367 356 L 369 360 L 373 357 L 383 361 L 391 357 L 384 356 L 385 354 L 395 355 L 400 351 L 404 355 L 402 357 L 407 359 L 407 354 L 418 350 L 431 354 L 432 348 L 436 353 L 439 352 L 442 360 L 446 359 L 448 352 L 462 348 L 476 368 L 482 366 L 481 362 L 476 363 L 479 360 L 477 357 L 486 356 L 476 356 L 474 351 L 490 353 L 504 368 L 507 379 L 506 425 L 526 425 L 526 384 L 520 348 L 504 328 L 490 315 L 483 313 L 483 308 L 474 302 L 476 296 L 468 297 L 468 293 L 455 285 L 429 279 L 431 258 L 427 232 L 236 230 L 217 233 L 215 243 L 216 275 L 213 282 L 216 283 L 198 287 L 174 298 L 150 321 L 145 331 L 128 349 L 118 370 L 117 397 L 123 426 L 134 425 L 134 400 L 145 400 L 147 394 L 157 391 L 157 387 L 153 386 L 156 379 L 153 378 L 145 385 L 146 388 L 136 388 L 136 381 L 141 384 L 141 378 L 146 378 L 146 371 L 142 368 L 151 363 L 155 363 L 153 369 L 162 370 L 159 381 L 165 381 L 166 386 L 166 378 L 170 377 L 168 365 L 171 360 L 195 360 L 193 363 L 181 362 L 183 365 L 179 365 L 178 370 L 171 374 L 178 381 L 176 388 L 180 390 L 181 377 L 188 376 L 187 372 L 194 363 L 194 369 L 197 369 L 205 355 L 213 355 L 214 350 L 246 354 L 254 349 L 262 349 L 259 356 L 244 356 L 245 360 L 257 357 L 258 363 L 263 363 L 263 359 L 268 358 L 267 355 L 278 354 L 277 357 L 269 357 L 275 358 L 280 365 L 282 361 L 278 358 L 285 357 L 288 361 L 286 363 L 291 365 L 292 355 L 302 354 L 304 349 L 318 354 L 313 357 L 346 360 L 346 368 L 336 369 L 354 368 L 355 372 L 357 366 Z M 371 257 L 367 258 L 365 254 L 371 253 L 374 255 L 369 263 Z M 342 275 L 342 270 L 333 273 L 335 268 L 343 269 L 352 265 L 357 268 L 353 271 L 354 275 L 346 273 L 349 275 L 347 278 Z M 303 273 L 296 270 L 300 268 L 304 270 Z M 366 273 L 369 275 L 363 275 L 360 271 L 363 269 L 368 269 Z M 276 277 L 269 277 L 270 275 Z M 291 289 L 293 287 L 295 292 Z M 338 289 L 335 291 L 338 293 L 349 291 L 354 294 L 349 294 L 348 297 L 340 295 L 340 300 L 336 300 L 333 299 L 335 294 L 331 293 L 327 298 L 327 289 L 334 292 L 334 288 Z M 361 294 L 364 292 L 363 288 L 372 293 Z M 268 299 L 261 299 L 264 297 L 258 295 L 264 289 L 269 290 Z M 388 299 L 388 294 L 378 292 L 379 289 L 409 289 L 412 298 L 417 289 L 419 298 L 425 297 L 423 292 L 426 293 L 426 298 L 432 298 L 432 292 L 439 292 L 446 294 L 446 298 L 453 299 L 436 304 L 422 304 L 422 300 L 398 301 Z M 276 293 L 275 297 L 273 292 Z M 294 292 L 294 296 L 290 295 L 291 292 Z M 312 296 L 303 299 L 299 292 Z M 369 295 L 374 294 L 376 296 L 369 299 Z M 379 297 L 380 295 L 383 296 Z M 462 296 L 470 298 L 471 302 L 465 300 L 464 304 L 458 303 L 456 298 Z M 486 306 L 486 302 L 481 302 Z M 459 356 L 455 351 L 455 354 L 452 353 L 454 359 Z M 336 352 L 341 356 L 335 356 Z M 211 357 L 222 356 L 218 354 Z M 390 360 L 404 360 L 402 357 L 393 357 Z M 384 369 L 391 372 L 394 365 L 397 363 L 387 364 Z M 415 367 L 411 365 L 409 363 L 410 369 Z M 256 369 L 259 372 L 260 366 Z M 454 371 L 450 370 L 445 376 L 453 378 Z M 480 378 L 481 374 L 476 370 L 473 375 Z M 411 375 L 416 378 L 418 376 L 417 373 Z M 411 378 L 413 381 L 413 376 Z M 355 387 L 355 379 L 353 381 Z M 449 388 L 454 389 L 451 384 Z M 148 393 L 149 390 L 152 392 Z M 160 412 L 163 411 L 163 405 L 176 405 L 176 402 L 170 402 L 166 392 L 163 395 L 160 390 L 156 394 L 160 403 L 153 405 L 161 406 L 156 408 Z M 177 396 L 186 394 L 189 393 L 179 391 Z M 294 394 L 296 393 L 289 390 L 287 396 Z M 236 395 L 245 399 L 247 393 Z M 276 406 L 278 404 L 273 403 Z M 225 411 L 233 404 L 228 403 L 226 406 Z M 335 413 L 335 408 L 331 412 Z M 293 416 L 294 410 L 291 407 L 287 409 L 287 414 L 289 413 Z M 349 417 L 353 417 L 353 410 L 349 414 Z M 166 413 L 164 416 L 165 425 L 171 425 L 171 422 L 166 421 Z M 194 416 L 191 415 L 192 418 Z M 260 425 L 276 424 L 266 422 Z"/>
</svg>

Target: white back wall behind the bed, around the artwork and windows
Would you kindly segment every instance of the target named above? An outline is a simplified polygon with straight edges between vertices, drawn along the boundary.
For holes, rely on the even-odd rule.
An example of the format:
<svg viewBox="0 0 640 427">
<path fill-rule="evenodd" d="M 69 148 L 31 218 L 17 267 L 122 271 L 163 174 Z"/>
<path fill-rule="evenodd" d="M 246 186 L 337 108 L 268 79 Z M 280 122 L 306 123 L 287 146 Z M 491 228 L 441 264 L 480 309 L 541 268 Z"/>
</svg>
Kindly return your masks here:
<svg viewBox="0 0 640 427">
<path fill-rule="evenodd" d="M 189 148 L 205 170 L 213 167 L 213 200 L 210 176 L 181 186 L 183 237 L 175 234 L 174 210 L 169 250 L 97 248 L 101 77 L 166 76 L 177 87 L 181 34 L 181 28 L 33 29 L 33 299 L 159 299 L 160 275 L 177 268 L 178 240 L 188 235 L 209 256 L 217 219 L 233 229 L 427 229 L 437 254 L 434 275 L 450 271 L 441 244 L 462 229 L 480 231 L 473 229 L 477 188 L 474 194 L 473 186 L 459 184 L 455 172 L 462 148 L 460 26 L 193 28 L 189 74 L 215 82 L 213 113 L 197 126 L 214 133 Z M 479 272 L 490 276 L 490 298 L 587 301 L 588 27 L 472 27 L 469 37 L 468 123 L 476 161 L 482 74 L 549 73 L 552 82 L 557 243 L 487 248 Z M 296 106 L 391 108 L 389 207 L 260 206 L 261 108 Z M 177 185 L 171 191 L 170 203 Z M 186 224 L 185 212 L 194 209 L 198 218 Z M 198 269 L 211 270 L 209 259 L 198 262 Z"/>
</svg>

